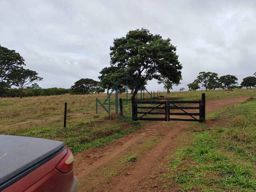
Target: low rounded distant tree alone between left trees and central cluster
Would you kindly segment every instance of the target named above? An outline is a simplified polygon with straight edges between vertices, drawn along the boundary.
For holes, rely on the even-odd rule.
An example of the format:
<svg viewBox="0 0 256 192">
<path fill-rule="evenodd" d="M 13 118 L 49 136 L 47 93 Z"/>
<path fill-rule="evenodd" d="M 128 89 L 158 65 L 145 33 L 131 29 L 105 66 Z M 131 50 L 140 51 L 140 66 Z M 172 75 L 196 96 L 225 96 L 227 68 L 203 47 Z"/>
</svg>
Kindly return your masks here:
<svg viewBox="0 0 256 192">
<path fill-rule="evenodd" d="M 80 79 L 73 86 L 71 86 L 71 90 L 76 94 L 90 94 L 95 92 L 98 86 L 98 81 L 93 79 Z"/>
</svg>

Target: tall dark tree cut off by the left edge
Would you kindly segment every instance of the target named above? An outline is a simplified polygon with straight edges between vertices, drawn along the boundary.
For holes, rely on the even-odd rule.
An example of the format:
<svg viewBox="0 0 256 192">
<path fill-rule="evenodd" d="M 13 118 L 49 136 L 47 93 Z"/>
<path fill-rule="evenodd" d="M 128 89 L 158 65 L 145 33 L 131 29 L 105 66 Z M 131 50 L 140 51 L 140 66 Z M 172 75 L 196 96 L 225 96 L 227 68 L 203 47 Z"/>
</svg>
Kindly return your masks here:
<svg viewBox="0 0 256 192">
<path fill-rule="evenodd" d="M 0 45 L 0 96 L 11 87 L 10 72 L 24 64 L 24 59 L 15 50 Z"/>
</svg>

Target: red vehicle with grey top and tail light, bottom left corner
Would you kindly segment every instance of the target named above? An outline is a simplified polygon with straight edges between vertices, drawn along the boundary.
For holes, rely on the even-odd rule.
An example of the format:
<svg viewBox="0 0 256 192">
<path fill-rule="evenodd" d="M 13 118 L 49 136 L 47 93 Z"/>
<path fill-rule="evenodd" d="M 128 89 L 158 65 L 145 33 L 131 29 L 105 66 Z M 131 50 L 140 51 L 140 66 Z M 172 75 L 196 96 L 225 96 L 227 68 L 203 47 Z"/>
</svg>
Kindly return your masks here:
<svg viewBox="0 0 256 192">
<path fill-rule="evenodd" d="M 73 160 L 63 142 L 0 135 L 0 191 L 77 192 Z"/>
</svg>

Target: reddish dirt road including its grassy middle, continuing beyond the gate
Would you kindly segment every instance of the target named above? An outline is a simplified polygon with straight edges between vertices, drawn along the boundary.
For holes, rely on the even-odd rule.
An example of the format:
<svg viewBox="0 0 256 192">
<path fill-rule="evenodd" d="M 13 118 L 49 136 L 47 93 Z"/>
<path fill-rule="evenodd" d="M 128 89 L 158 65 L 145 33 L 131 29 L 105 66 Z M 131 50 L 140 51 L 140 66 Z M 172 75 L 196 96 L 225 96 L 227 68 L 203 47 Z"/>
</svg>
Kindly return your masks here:
<svg viewBox="0 0 256 192">
<path fill-rule="evenodd" d="M 206 101 L 206 114 L 222 107 L 244 102 L 249 97 Z M 178 140 L 188 132 L 191 122 L 145 122 L 138 131 L 117 139 L 106 147 L 90 148 L 75 154 L 75 174 L 79 191 L 152 191 L 152 180 L 161 173 L 165 157 L 178 147 Z M 150 139 L 160 138 L 155 145 L 143 148 Z M 139 154 L 136 162 L 120 164 L 125 154 Z M 106 171 L 107 170 L 107 171 Z"/>
</svg>

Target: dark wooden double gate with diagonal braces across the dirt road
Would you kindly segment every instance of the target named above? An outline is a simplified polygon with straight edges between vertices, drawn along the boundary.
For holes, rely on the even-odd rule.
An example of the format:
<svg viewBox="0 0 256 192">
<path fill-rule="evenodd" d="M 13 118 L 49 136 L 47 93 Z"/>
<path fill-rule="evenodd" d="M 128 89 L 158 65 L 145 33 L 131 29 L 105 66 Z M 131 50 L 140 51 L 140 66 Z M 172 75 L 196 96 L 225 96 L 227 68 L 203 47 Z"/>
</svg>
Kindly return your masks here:
<svg viewBox="0 0 256 192">
<path fill-rule="evenodd" d="M 157 104 L 157 106 L 138 106 L 139 104 Z M 198 104 L 198 106 L 178 106 L 178 104 Z M 143 110 L 147 110 L 142 111 Z M 160 110 L 160 112 L 156 112 Z M 182 112 L 172 112 L 172 110 L 181 110 Z M 198 110 L 198 112 L 188 112 L 186 110 Z M 146 115 L 165 115 L 160 117 L 144 117 Z M 191 118 L 172 118 L 172 116 L 190 116 Z M 195 116 L 198 116 L 196 118 Z M 132 100 L 132 119 L 151 120 L 151 121 L 198 121 L 205 122 L 205 93 L 202 94 L 202 100 L 199 101 L 140 101 Z"/>
</svg>

